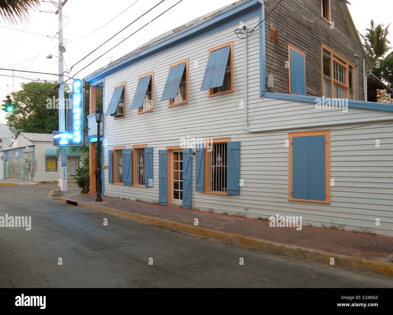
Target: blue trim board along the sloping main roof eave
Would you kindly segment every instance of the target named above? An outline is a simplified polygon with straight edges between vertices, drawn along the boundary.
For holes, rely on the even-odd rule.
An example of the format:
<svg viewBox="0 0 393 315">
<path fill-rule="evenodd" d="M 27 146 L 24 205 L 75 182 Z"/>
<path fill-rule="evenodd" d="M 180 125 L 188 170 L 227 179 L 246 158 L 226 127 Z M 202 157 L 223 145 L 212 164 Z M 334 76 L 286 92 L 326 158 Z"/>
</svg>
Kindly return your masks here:
<svg viewBox="0 0 393 315">
<path fill-rule="evenodd" d="M 140 52 L 133 53 L 132 55 L 125 57 L 124 59 L 115 61 L 113 64 L 107 66 L 107 68 L 98 70 L 97 72 L 88 75 L 85 78 L 85 81 L 100 83 L 103 81 L 103 77 L 116 70 L 119 70 L 120 68 L 123 68 L 124 66 L 135 63 L 136 61 L 151 57 L 156 53 L 164 53 L 173 50 L 174 48 L 184 46 L 185 44 L 194 42 L 198 39 L 202 39 L 211 34 L 222 31 L 223 29 L 230 28 L 231 26 L 239 24 L 239 22 L 242 20 L 249 20 L 250 18 L 257 16 L 261 17 L 261 9 L 261 0 L 248 0 L 242 2 L 234 7 L 227 9 L 226 11 L 223 11 L 220 14 L 208 18 L 206 21 L 200 22 L 195 26 L 186 29 L 185 31 L 182 31 L 169 38 L 162 39 L 161 41 L 158 41 L 155 44 L 144 48 Z M 264 30 L 264 22 L 262 24 Z M 265 53 L 263 53 L 263 55 L 265 55 Z"/>
</svg>

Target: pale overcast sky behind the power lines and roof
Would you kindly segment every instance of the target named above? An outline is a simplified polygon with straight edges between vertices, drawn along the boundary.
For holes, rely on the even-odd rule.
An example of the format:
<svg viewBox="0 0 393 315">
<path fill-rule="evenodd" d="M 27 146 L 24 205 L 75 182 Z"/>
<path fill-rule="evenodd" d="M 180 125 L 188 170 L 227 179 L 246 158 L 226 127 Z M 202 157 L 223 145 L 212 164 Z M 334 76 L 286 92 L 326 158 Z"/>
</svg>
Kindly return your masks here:
<svg viewBox="0 0 393 315">
<path fill-rule="evenodd" d="M 54 1 L 58 2 L 58 0 Z M 319 2 L 319 0 L 314 1 Z M 68 0 L 63 8 L 63 38 L 67 49 L 64 53 L 65 69 L 69 69 L 74 63 L 159 2 L 160 0 Z M 74 75 L 95 58 L 173 6 L 176 2 L 178 0 L 165 0 L 92 55 L 76 64 L 71 74 Z M 83 78 L 108 64 L 110 60 L 125 55 L 150 39 L 233 2 L 233 0 L 183 0 L 167 13 L 154 20 L 154 22 L 81 71 L 76 77 Z M 338 0 L 332 0 L 331 2 L 332 5 L 338 5 L 335 3 Z M 365 28 L 370 26 L 371 18 L 376 23 L 383 23 L 385 26 L 392 20 L 392 0 L 373 0 L 372 2 L 369 0 L 349 0 L 349 2 L 351 2 L 351 5 L 348 7 L 355 26 L 363 34 L 365 33 Z M 41 1 L 41 7 L 37 10 L 49 12 L 31 10 L 31 15 L 16 25 L 0 20 L 0 42 L 2 43 L 0 46 L 0 68 L 15 68 L 15 76 L 29 79 L 57 80 L 57 77 L 53 75 L 17 72 L 17 70 L 29 70 L 51 74 L 58 73 L 57 57 L 53 57 L 52 59 L 46 58 L 48 54 L 58 55 L 58 15 L 54 13 L 56 7 L 49 0 L 44 0 Z M 111 21 L 112 19 L 114 20 Z M 100 29 L 97 30 L 98 28 Z M 388 38 L 392 43 L 391 46 L 393 46 L 393 25 L 389 29 L 390 34 Z M 0 70 L 0 74 L 13 75 L 12 71 L 6 70 Z M 30 82 L 30 80 L 16 77 L 14 82 L 15 90 L 20 88 L 20 83 L 22 82 Z M 1 99 L 4 99 L 7 95 L 7 85 L 8 91 L 12 92 L 13 78 L 0 76 Z M 5 116 L 6 113 L 1 111 L 0 123 L 6 122 L 4 120 Z"/>
</svg>

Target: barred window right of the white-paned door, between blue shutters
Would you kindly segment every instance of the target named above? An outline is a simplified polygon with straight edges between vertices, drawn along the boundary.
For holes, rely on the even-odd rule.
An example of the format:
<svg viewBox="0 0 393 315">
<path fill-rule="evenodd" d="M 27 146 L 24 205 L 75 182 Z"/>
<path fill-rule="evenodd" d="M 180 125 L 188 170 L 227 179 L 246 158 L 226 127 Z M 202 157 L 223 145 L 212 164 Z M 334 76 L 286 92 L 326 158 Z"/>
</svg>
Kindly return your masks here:
<svg viewBox="0 0 393 315">
<path fill-rule="evenodd" d="M 209 191 L 226 193 L 226 143 L 211 145 L 209 158 Z"/>
</svg>

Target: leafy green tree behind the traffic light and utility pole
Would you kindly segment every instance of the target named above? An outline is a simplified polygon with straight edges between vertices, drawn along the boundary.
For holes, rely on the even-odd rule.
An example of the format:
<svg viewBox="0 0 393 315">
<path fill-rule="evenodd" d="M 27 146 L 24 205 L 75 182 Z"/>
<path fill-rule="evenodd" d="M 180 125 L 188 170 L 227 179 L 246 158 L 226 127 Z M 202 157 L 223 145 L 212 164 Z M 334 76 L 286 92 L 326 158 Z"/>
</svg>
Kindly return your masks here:
<svg viewBox="0 0 393 315">
<path fill-rule="evenodd" d="M 57 83 L 37 82 L 21 83 L 21 90 L 11 93 L 15 109 L 8 113 L 8 126 L 15 134 L 52 133 L 59 130 L 59 110 L 53 104 L 59 95 Z M 42 96 L 45 92 L 48 94 Z M 64 95 L 71 93 L 68 85 L 64 85 Z M 49 101 L 50 100 L 50 101 Z M 47 108 L 47 104 L 54 108 Z"/>
</svg>

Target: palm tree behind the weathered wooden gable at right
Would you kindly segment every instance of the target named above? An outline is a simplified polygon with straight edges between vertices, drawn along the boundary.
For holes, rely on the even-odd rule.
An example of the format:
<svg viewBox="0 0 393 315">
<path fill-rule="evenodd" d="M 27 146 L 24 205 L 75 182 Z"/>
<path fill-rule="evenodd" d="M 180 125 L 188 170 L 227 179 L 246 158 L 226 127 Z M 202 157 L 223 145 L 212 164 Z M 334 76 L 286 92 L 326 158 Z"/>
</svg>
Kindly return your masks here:
<svg viewBox="0 0 393 315">
<path fill-rule="evenodd" d="M 366 28 L 367 33 L 364 36 L 360 34 L 364 50 L 369 56 L 373 74 L 385 81 L 389 87 L 393 87 L 393 52 L 387 54 L 391 49 L 387 39 L 390 24 L 385 28 L 384 24 L 375 24 L 374 20 L 370 23 L 371 27 Z"/>
</svg>

